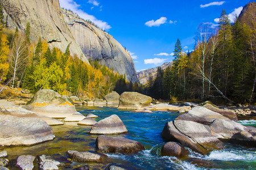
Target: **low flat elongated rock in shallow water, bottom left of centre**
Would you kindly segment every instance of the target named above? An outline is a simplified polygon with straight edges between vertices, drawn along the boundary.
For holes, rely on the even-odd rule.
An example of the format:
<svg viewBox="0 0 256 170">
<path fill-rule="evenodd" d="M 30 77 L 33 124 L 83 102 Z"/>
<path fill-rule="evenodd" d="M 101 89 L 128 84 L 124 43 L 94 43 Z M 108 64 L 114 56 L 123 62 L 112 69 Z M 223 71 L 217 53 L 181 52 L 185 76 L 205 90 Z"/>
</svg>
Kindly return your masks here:
<svg viewBox="0 0 256 170">
<path fill-rule="evenodd" d="M 108 158 L 105 154 L 100 154 L 98 152 L 86 151 L 67 151 L 67 154 L 77 162 L 105 162 Z"/>
</svg>

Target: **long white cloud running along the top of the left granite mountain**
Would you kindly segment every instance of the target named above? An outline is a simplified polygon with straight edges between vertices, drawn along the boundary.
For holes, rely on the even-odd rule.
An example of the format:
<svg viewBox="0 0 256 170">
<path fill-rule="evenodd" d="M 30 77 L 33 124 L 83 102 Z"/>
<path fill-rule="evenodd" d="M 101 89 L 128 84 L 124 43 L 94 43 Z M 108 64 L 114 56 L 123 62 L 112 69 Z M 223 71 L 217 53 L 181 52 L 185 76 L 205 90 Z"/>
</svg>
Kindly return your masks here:
<svg viewBox="0 0 256 170">
<path fill-rule="evenodd" d="M 89 19 L 94 24 L 98 25 L 99 28 L 109 30 L 111 27 L 108 23 L 98 20 L 93 15 L 89 15 L 86 12 L 79 9 L 80 5 L 78 5 L 74 0 L 60 0 L 60 6 L 67 8 L 69 10 L 72 10 L 73 12 L 76 12 L 81 18 L 83 19 Z"/>
</svg>

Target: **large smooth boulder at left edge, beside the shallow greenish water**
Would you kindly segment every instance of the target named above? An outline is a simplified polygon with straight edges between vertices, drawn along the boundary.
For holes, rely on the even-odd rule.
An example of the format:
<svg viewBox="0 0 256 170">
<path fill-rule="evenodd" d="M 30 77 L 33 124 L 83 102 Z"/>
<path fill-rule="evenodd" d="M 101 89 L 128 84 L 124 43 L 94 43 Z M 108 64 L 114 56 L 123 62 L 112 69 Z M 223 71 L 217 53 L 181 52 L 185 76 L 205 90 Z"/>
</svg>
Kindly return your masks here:
<svg viewBox="0 0 256 170">
<path fill-rule="evenodd" d="M 0 115 L 0 145 L 30 146 L 55 138 L 51 126 L 40 118 Z"/>
</svg>

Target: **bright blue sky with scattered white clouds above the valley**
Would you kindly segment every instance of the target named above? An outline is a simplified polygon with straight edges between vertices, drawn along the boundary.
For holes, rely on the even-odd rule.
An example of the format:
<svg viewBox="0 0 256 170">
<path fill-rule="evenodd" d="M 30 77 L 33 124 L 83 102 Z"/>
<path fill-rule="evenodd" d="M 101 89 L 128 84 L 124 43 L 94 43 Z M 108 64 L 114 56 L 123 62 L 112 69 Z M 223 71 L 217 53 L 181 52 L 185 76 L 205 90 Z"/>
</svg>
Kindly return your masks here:
<svg viewBox="0 0 256 170">
<path fill-rule="evenodd" d="M 59 0 L 60 6 L 106 29 L 129 50 L 137 71 L 170 62 L 179 38 L 184 52 L 193 50 L 200 23 L 217 27 L 222 9 L 230 20 L 249 0 L 152 1 Z"/>
</svg>

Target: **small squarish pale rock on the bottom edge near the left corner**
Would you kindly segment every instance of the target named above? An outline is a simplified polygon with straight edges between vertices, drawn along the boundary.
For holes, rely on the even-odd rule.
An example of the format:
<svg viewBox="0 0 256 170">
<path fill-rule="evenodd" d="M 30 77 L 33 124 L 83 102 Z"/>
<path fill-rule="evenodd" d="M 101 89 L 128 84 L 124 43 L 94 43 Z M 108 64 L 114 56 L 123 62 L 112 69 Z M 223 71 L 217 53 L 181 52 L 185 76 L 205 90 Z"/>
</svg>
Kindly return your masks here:
<svg viewBox="0 0 256 170">
<path fill-rule="evenodd" d="M 34 160 L 35 156 L 22 155 L 18 157 L 16 165 L 18 165 L 22 170 L 32 170 L 34 169 Z"/>
</svg>

